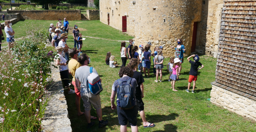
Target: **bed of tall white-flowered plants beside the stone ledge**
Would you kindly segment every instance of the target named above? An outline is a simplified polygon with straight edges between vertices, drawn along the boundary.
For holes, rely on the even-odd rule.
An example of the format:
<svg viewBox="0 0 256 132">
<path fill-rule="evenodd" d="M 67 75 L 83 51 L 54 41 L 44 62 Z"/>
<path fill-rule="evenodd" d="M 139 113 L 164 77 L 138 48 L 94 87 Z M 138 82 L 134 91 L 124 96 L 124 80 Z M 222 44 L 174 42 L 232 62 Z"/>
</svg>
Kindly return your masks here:
<svg viewBox="0 0 256 132">
<path fill-rule="evenodd" d="M 56 53 L 45 45 L 43 29 L 43 33 L 35 30 L 40 31 L 30 30 L 34 34 L 16 43 L 12 51 L 0 54 L 0 131 L 42 130 L 47 105 L 44 89 Z"/>
</svg>

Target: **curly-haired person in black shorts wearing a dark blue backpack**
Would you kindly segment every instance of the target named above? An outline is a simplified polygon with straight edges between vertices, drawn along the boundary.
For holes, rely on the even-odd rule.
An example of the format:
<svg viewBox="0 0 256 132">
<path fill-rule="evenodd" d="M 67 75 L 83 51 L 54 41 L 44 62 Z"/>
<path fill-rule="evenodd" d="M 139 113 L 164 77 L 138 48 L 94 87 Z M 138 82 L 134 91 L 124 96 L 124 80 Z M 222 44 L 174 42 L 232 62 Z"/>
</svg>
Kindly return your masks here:
<svg viewBox="0 0 256 132">
<path fill-rule="evenodd" d="M 127 131 L 127 122 L 131 125 L 132 132 L 138 131 L 137 126 L 137 104 L 135 91 L 137 85 L 136 79 L 132 78 L 133 71 L 130 67 L 122 67 L 119 71 L 120 79 L 116 80 L 112 86 L 111 108 L 117 109 L 118 121 L 121 132 Z M 115 95 L 117 94 L 117 107 L 115 105 Z"/>
</svg>

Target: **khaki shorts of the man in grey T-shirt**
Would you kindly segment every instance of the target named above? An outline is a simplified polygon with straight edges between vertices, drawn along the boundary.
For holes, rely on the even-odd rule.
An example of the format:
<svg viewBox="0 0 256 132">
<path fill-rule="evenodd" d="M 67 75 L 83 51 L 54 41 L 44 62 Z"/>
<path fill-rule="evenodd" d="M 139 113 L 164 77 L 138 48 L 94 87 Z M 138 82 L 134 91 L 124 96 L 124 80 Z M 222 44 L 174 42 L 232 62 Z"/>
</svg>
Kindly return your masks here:
<svg viewBox="0 0 256 132">
<path fill-rule="evenodd" d="M 94 109 L 101 108 L 101 97 L 100 95 L 92 95 L 91 93 L 81 93 L 81 98 L 83 99 L 84 110 L 91 110 L 91 104 Z"/>
</svg>

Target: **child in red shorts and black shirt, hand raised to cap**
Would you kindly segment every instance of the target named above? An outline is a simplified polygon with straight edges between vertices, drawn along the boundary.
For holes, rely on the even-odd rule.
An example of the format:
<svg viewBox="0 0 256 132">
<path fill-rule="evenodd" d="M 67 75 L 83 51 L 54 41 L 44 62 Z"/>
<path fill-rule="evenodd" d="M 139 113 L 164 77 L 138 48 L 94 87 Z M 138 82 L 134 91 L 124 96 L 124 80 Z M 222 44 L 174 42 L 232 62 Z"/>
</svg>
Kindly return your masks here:
<svg viewBox="0 0 256 132">
<path fill-rule="evenodd" d="M 191 57 L 193 57 L 194 61 L 190 60 Z M 204 65 L 199 62 L 199 56 L 198 55 L 191 55 L 187 58 L 187 60 L 191 64 L 191 67 L 190 67 L 189 78 L 188 78 L 188 86 L 187 86 L 186 92 L 189 92 L 191 82 L 193 81 L 192 93 L 195 93 L 195 81 L 197 80 L 197 71 L 204 68 Z M 199 66 L 201 66 L 201 67 L 198 68 Z"/>
</svg>

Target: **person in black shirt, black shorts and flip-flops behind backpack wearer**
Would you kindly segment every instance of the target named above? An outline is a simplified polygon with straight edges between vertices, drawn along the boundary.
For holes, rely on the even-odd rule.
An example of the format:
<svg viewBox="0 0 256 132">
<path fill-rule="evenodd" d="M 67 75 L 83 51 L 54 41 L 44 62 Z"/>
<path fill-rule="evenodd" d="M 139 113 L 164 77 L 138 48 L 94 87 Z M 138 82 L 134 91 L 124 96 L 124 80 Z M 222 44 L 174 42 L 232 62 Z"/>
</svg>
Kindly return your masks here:
<svg viewBox="0 0 256 132">
<path fill-rule="evenodd" d="M 140 72 L 137 72 L 136 68 L 138 67 L 138 65 L 140 64 L 140 62 L 138 61 L 138 59 L 132 58 L 130 60 L 130 62 L 127 64 L 127 66 L 129 66 L 132 71 L 133 71 L 133 76 L 132 78 L 137 80 L 137 87 L 136 87 L 136 92 L 135 92 L 135 97 L 136 97 L 136 104 L 137 104 L 137 109 L 140 112 L 140 116 L 141 119 L 143 121 L 143 127 L 154 127 L 155 124 L 153 123 L 149 123 L 146 120 L 146 115 L 144 112 L 144 103 L 142 101 L 142 98 L 144 98 L 144 78 L 142 76 L 142 74 Z"/>
</svg>

